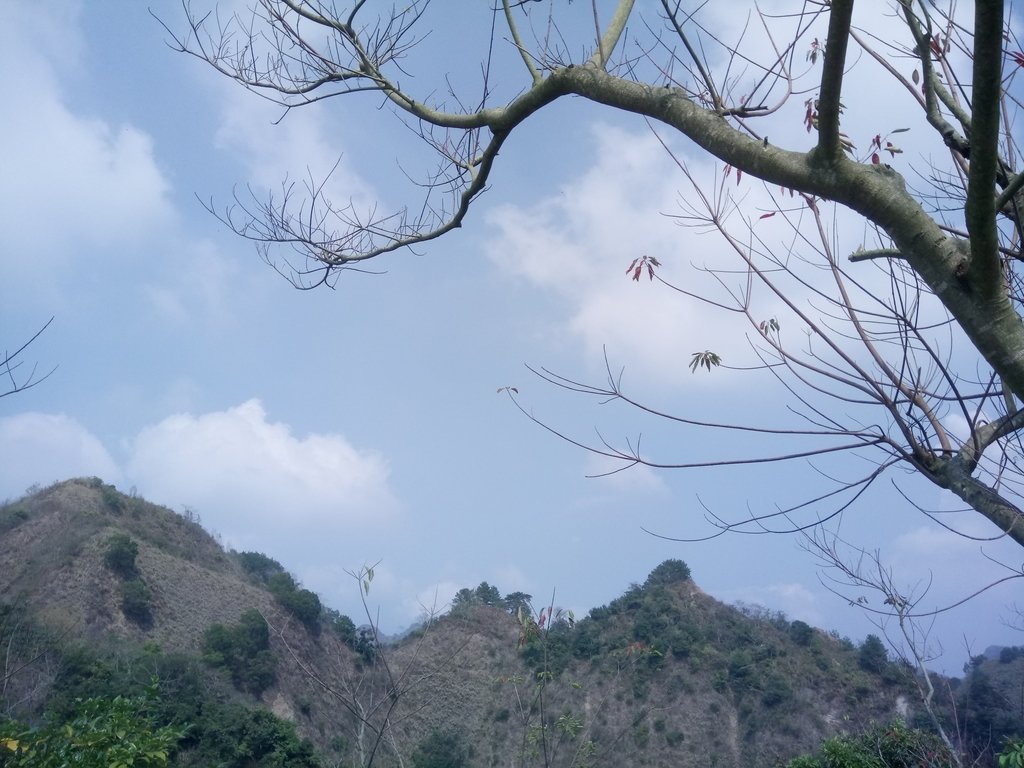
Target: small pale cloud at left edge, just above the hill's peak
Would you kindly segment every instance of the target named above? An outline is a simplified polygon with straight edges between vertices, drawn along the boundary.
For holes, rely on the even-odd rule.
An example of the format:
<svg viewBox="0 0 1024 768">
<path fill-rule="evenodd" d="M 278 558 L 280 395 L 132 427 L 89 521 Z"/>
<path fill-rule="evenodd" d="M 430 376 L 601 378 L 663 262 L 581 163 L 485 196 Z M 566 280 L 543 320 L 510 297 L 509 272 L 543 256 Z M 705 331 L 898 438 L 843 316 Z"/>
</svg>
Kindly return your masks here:
<svg viewBox="0 0 1024 768">
<path fill-rule="evenodd" d="M 25 413 L 0 419 L 0 488 L 7 497 L 34 483 L 96 476 L 121 481 L 102 443 L 62 414 Z"/>
</svg>

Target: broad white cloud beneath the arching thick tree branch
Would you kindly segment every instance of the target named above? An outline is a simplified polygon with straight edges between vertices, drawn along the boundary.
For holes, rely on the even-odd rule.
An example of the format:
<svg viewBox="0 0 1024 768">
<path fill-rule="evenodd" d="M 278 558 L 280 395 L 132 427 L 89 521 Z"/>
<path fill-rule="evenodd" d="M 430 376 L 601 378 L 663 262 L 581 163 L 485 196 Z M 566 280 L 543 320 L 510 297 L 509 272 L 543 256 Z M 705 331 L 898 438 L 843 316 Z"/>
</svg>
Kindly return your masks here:
<svg viewBox="0 0 1024 768">
<path fill-rule="evenodd" d="M 593 139 L 595 165 L 558 194 L 490 213 L 488 256 L 507 274 L 556 293 L 569 307 L 562 333 L 582 341 L 594 362 L 607 348 L 631 379 L 678 384 L 689 377 L 697 350 L 713 349 L 728 360 L 731 349 L 746 346 L 742 317 L 651 284 L 646 274 L 633 282 L 626 272 L 648 255 L 664 264 L 659 274 L 685 285 L 696 274 L 691 265 L 735 268 L 733 257 L 720 239 L 698 238 L 665 215 L 680 210 L 686 180 L 672 172 L 656 138 L 599 125 Z M 715 323 L 708 322 L 709 311 Z M 699 386 L 708 378 L 686 381 Z M 719 386 L 722 377 L 715 378 Z"/>
</svg>

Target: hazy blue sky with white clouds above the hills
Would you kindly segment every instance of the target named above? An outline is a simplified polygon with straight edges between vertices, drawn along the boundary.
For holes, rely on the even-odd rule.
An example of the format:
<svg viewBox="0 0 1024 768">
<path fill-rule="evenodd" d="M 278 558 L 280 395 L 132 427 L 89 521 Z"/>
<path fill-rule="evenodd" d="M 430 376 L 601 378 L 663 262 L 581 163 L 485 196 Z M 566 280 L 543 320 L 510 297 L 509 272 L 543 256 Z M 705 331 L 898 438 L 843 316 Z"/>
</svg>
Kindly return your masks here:
<svg viewBox="0 0 1024 768">
<path fill-rule="evenodd" d="M 434 36 L 411 61 L 423 75 L 408 78 L 424 94 L 443 89 L 430 79 L 438 74 L 478 84 L 489 24 L 489 14 L 452 18 L 437 5 Z M 630 391 L 658 408 L 785 424 L 785 392 L 767 379 L 688 369 L 694 351 L 749 352 L 735 318 L 626 274 L 634 258 L 654 255 L 663 274 L 689 285 L 700 276 L 694 265 L 729 258 L 720 239 L 679 226 L 674 215 L 692 193 L 642 121 L 579 99 L 557 103 L 508 141 L 461 229 L 370 262 L 373 273 L 345 273 L 333 289 L 297 291 L 204 204 L 223 211 L 236 193 L 322 179 L 337 164 L 335 199 L 415 206 L 410 177 L 429 168 L 429 153 L 374 97 L 281 119 L 172 50 L 154 14 L 181 30 L 180 4 L 151 7 L 0 6 L 0 59 L 17 73 L 6 80 L 0 123 L 0 343 L 13 350 L 53 317 L 19 370 L 52 374 L 0 398 L 0 499 L 98 476 L 198 515 L 227 547 L 276 558 L 357 622 L 349 572 L 377 564 L 370 600 L 385 631 L 483 581 L 538 604 L 554 595 L 584 614 L 679 558 L 725 602 L 854 641 L 882 634 L 826 588 L 796 537 L 673 541 L 713 530 L 706 509 L 734 518 L 793 503 L 813 495 L 825 471 L 859 471 L 851 465 L 862 457 L 594 477 L 614 465 L 499 391 L 515 387 L 526 414 L 566 434 L 618 443 L 642 434 L 645 456 L 677 462 L 771 445 L 643 419 L 559 390 L 527 367 L 602 383 L 607 354 Z M 586 38 L 586 25 L 577 29 Z M 457 67 L 452 44 L 465 40 L 476 41 L 465 45 L 472 66 Z M 508 54 L 507 41 L 499 46 Z M 516 62 L 496 65 L 499 92 L 523 86 Z M 851 77 L 863 81 L 850 90 L 850 135 L 863 145 L 900 127 L 905 103 L 883 100 L 870 62 Z M 803 98 L 794 101 L 773 140 L 806 148 Z M 692 145 L 668 140 L 709 183 L 721 177 Z M 908 140 L 914 148 L 900 161 L 941 152 L 920 131 Z M 767 193 L 743 183 L 743 204 L 756 210 Z M 853 230 L 851 242 L 862 238 L 845 214 L 836 221 Z M 896 486 L 954 508 L 939 489 L 902 472 L 893 480 L 845 513 L 842 532 L 898 564 L 909 587 L 931 585 L 925 604 L 1005 573 L 993 560 L 1019 562 L 1005 542 L 931 523 Z M 990 534 L 972 516 L 958 519 Z M 938 668 L 958 674 L 969 651 L 1021 643 L 1008 625 L 1015 585 L 926 623 Z"/>
</svg>

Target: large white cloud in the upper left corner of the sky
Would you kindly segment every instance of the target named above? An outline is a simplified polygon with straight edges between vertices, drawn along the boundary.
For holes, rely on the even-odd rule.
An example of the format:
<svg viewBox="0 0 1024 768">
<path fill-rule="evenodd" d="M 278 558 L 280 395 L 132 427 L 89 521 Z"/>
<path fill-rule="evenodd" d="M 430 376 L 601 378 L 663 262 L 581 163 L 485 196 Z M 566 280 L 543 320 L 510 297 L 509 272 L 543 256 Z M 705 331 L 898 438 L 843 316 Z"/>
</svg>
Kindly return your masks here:
<svg viewBox="0 0 1024 768">
<path fill-rule="evenodd" d="M 33 19 L 39 9 L 8 15 L 0 66 L 18 75 L 6 83 L 0 123 L 0 207 L 10 222 L 0 262 L 7 280 L 51 288 L 54 273 L 63 274 L 90 246 L 137 241 L 142 255 L 154 230 L 170 219 L 169 187 L 147 134 L 66 103 L 65 83 L 77 62 L 70 59 L 81 55 L 71 18 L 51 9 L 40 26 Z M 57 52 L 61 41 L 68 47 Z"/>
</svg>

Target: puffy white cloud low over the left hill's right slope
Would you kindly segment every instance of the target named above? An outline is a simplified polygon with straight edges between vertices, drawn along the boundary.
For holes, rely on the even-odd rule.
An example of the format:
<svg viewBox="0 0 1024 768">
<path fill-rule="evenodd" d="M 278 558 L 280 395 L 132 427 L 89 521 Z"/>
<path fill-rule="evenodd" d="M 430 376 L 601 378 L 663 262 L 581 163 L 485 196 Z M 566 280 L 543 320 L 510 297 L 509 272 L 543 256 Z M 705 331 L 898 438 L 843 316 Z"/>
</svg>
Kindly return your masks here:
<svg viewBox="0 0 1024 768">
<path fill-rule="evenodd" d="M 163 503 L 198 507 L 229 538 L 368 522 L 394 511 L 384 459 L 338 434 L 297 437 L 252 399 L 143 429 L 127 474 Z M 211 520 L 211 518 L 213 518 Z"/>
</svg>

